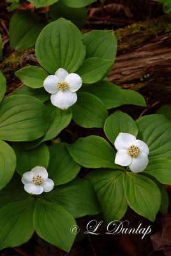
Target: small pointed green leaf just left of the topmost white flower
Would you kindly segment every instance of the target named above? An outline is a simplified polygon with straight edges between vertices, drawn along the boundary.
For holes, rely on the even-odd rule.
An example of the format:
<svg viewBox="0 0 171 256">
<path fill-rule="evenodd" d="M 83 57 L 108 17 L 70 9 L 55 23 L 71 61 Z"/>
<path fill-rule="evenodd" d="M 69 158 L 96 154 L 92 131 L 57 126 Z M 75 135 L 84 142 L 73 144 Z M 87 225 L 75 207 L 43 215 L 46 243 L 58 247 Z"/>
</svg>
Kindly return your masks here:
<svg viewBox="0 0 171 256">
<path fill-rule="evenodd" d="M 40 88 L 43 87 L 43 82 L 49 74 L 43 68 L 28 66 L 15 72 L 15 76 L 19 77 L 26 86 Z"/>
</svg>

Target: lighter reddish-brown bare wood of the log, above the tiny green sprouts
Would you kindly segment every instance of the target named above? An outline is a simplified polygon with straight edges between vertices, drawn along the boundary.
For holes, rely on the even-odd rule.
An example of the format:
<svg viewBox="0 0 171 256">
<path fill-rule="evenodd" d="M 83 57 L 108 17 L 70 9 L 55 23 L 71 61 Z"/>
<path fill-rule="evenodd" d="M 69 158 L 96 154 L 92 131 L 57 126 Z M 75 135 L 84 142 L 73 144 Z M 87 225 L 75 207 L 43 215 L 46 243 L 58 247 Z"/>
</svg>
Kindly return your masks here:
<svg viewBox="0 0 171 256">
<path fill-rule="evenodd" d="M 126 85 L 140 81 L 145 75 L 169 80 L 171 74 L 171 33 L 154 38 L 148 44 L 117 56 L 108 78 Z M 140 79 L 142 77 L 142 79 Z"/>
</svg>

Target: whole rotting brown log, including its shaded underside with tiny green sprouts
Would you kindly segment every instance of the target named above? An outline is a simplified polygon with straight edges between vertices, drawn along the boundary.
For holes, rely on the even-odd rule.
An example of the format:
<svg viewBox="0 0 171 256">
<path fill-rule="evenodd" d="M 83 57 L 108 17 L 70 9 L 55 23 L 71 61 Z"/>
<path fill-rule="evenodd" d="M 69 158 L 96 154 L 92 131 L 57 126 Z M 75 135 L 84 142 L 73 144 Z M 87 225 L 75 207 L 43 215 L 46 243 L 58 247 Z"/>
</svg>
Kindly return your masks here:
<svg viewBox="0 0 171 256">
<path fill-rule="evenodd" d="M 148 24 L 139 23 L 137 28 L 133 24 L 135 31 L 132 26 L 119 29 L 121 42 L 108 79 L 123 88 L 137 90 L 151 104 L 157 101 L 168 104 L 171 101 L 171 32 L 165 31 L 171 30 L 171 15 L 154 21 L 158 28 L 165 24 L 170 29 L 163 25 L 161 30 L 152 33 Z"/>
</svg>

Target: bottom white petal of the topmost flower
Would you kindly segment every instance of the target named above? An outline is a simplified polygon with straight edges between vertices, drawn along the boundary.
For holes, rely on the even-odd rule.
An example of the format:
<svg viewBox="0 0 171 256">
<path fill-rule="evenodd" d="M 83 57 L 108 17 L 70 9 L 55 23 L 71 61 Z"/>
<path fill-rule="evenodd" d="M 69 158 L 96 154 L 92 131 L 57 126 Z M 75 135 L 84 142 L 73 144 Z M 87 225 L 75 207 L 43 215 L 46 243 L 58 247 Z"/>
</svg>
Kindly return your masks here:
<svg viewBox="0 0 171 256">
<path fill-rule="evenodd" d="M 57 93 L 52 94 L 50 100 L 54 106 L 61 109 L 70 108 L 77 101 L 77 93 L 59 90 Z"/>
</svg>

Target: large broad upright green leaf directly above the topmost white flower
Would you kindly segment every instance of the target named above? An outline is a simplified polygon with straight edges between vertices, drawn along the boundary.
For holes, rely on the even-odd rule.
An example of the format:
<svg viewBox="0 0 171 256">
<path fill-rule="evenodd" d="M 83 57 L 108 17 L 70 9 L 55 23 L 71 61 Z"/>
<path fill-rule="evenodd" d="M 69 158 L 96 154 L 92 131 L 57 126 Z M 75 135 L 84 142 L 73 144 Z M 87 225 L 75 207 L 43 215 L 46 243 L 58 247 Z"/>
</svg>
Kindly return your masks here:
<svg viewBox="0 0 171 256">
<path fill-rule="evenodd" d="M 36 41 L 36 58 L 50 74 L 58 68 L 75 72 L 85 58 L 78 28 L 63 18 L 48 24 Z"/>
</svg>

